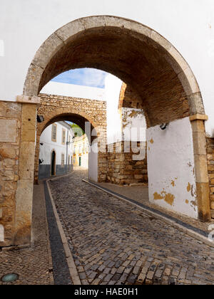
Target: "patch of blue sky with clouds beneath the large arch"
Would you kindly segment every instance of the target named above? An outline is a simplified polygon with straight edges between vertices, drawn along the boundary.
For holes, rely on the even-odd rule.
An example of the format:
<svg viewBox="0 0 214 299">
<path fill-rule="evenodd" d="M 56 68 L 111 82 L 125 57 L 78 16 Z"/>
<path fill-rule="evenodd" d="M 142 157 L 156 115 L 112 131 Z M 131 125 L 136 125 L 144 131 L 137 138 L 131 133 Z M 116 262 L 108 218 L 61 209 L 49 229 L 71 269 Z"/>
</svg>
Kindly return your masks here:
<svg viewBox="0 0 214 299">
<path fill-rule="evenodd" d="M 105 78 L 108 73 L 95 68 L 77 68 L 61 73 L 51 81 L 75 85 L 105 88 Z"/>
</svg>

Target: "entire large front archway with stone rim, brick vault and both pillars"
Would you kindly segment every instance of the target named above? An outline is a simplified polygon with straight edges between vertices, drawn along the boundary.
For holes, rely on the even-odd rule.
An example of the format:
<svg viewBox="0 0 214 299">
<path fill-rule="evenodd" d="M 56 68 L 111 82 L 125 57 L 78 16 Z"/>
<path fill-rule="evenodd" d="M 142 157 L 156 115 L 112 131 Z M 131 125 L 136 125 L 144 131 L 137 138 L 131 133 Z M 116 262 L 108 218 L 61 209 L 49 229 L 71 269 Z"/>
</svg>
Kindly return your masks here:
<svg viewBox="0 0 214 299">
<path fill-rule="evenodd" d="M 25 120 L 21 127 L 21 136 L 24 137 L 21 142 L 25 142 L 23 146 L 31 150 L 28 157 L 24 151 L 19 155 L 20 160 L 23 160 L 19 169 L 26 168 L 26 165 L 30 167 L 24 168 L 26 171 L 19 176 L 16 192 L 19 194 L 19 209 L 16 209 L 14 243 L 29 241 L 31 188 L 29 204 L 26 204 L 26 195 L 21 194 L 26 194 L 26 184 L 33 184 L 33 179 L 29 177 L 29 168 L 33 168 L 31 164 L 34 161 L 34 111 L 36 112 L 36 105 L 39 103 L 39 92 L 59 73 L 83 67 L 106 70 L 130 85 L 141 97 L 148 126 L 151 128 L 161 122 L 182 120 L 180 112 L 183 100 L 188 100 L 189 118 L 185 117 L 188 118 L 185 121 L 190 122 L 189 131 L 193 137 L 193 177 L 196 189 L 194 204 L 197 205 L 199 219 L 209 220 L 210 199 L 204 127 L 207 117 L 200 88 L 188 63 L 169 41 L 141 23 L 116 16 L 91 16 L 72 21 L 47 38 L 29 66 L 23 95 L 17 97 L 17 101 L 22 103 L 22 117 Z M 27 105 L 31 105 L 32 117 L 28 115 Z M 158 115 L 163 112 L 165 117 L 160 121 Z M 187 189 L 191 191 L 191 186 Z"/>
</svg>

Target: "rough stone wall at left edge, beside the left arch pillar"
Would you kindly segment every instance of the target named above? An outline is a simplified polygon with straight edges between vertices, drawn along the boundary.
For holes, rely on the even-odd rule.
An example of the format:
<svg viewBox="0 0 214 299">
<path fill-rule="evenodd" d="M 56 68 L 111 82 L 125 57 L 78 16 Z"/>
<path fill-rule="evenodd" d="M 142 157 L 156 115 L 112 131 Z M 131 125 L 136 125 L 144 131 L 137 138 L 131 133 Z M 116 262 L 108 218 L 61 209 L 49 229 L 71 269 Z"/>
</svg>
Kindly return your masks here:
<svg viewBox="0 0 214 299">
<path fill-rule="evenodd" d="M 14 240 L 21 104 L 0 102 L 0 247 Z"/>
</svg>

